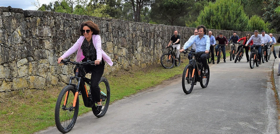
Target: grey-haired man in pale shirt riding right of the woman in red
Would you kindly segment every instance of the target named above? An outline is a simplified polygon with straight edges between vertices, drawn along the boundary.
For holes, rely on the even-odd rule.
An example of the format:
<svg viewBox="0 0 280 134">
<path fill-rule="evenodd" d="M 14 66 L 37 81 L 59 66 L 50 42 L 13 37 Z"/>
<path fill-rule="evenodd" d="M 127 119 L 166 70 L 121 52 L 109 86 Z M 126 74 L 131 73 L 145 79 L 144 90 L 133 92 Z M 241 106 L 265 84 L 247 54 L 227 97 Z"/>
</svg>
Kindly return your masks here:
<svg viewBox="0 0 280 134">
<path fill-rule="evenodd" d="M 250 43 L 250 41 L 251 40 L 253 40 L 253 42 L 254 42 L 254 44 L 255 45 L 257 45 L 256 46 L 256 49 L 258 50 L 258 63 L 259 64 L 262 64 L 262 62 L 261 62 L 261 51 L 262 51 L 262 47 L 261 46 L 263 46 L 263 38 L 262 38 L 262 35 L 261 34 L 259 34 L 259 31 L 258 30 L 255 30 L 254 31 L 254 35 L 252 35 L 251 37 L 250 37 L 250 39 L 247 41 L 247 43 L 246 43 L 246 47 L 248 46 L 248 44 Z M 254 47 L 252 46 L 251 47 L 251 52 L 252 52 L 252 49 L 253 49 Z"/>
</svg>

